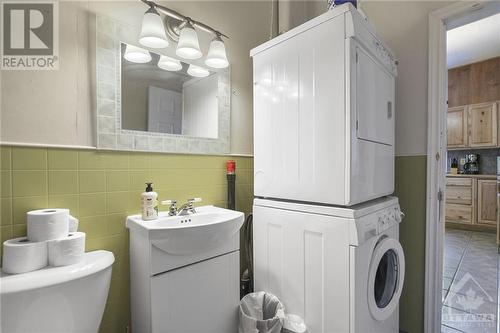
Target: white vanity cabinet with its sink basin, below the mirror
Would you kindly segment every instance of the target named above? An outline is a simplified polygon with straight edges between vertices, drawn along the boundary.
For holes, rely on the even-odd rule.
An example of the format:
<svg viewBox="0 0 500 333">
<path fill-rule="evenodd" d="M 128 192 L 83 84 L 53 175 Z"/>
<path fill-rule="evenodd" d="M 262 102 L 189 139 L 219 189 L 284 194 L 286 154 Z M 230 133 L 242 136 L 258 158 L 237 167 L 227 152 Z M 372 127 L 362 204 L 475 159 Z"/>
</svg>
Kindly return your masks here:
<svg viewBox="0 0 500 333">
<path fill-rule="evenodd" d="M 132 332 L 236 332 L 242 224 L 243 213 L 212 206 L 129 217 Z"/>
</svg>

